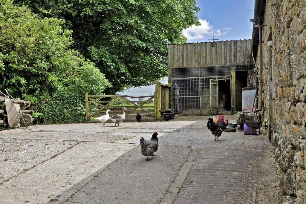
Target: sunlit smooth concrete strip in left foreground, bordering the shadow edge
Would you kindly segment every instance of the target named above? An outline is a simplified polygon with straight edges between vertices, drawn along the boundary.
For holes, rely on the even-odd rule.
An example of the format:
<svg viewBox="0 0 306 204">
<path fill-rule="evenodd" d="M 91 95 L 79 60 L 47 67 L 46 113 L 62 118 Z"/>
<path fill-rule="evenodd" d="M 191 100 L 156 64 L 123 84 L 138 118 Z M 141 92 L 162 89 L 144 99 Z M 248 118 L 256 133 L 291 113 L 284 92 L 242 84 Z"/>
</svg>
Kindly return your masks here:
<svg viewBox="0 0 306 204">
<path fill-rule="evenodd" d="M 64 202 L 133 144 L 82 142 L 5 181 L 0 203 Z"/>
</svg>

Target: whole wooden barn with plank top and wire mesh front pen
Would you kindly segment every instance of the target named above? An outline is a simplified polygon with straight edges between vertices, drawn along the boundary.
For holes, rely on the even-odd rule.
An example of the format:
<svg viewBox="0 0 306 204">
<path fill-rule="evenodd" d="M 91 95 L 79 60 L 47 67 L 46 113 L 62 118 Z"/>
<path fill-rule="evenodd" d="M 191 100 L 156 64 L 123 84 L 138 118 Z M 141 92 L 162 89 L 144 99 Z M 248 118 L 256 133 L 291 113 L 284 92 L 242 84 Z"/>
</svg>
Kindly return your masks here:
<svg viewBox="0 0 306 204">
<path fill-rule="evenodd" d="M 242 88 L 253 69 L 252 41 L 168 45 L 174 113 L 234 114 L 242 109 Z"/>
</svg>

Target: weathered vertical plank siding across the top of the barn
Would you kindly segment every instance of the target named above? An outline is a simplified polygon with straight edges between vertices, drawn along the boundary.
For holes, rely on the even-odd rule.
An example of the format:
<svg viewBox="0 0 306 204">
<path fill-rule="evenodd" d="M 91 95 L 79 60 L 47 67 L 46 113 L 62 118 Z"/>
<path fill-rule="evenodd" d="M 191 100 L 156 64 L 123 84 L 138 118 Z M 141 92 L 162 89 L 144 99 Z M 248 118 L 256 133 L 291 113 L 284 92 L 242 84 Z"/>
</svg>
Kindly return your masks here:
<svg viewBox="0 0 306 204">
<path fill-rule="evenodd" d="M 168 67 L 251 63 L 251 40 L 168 45 Z"/>
</svg>

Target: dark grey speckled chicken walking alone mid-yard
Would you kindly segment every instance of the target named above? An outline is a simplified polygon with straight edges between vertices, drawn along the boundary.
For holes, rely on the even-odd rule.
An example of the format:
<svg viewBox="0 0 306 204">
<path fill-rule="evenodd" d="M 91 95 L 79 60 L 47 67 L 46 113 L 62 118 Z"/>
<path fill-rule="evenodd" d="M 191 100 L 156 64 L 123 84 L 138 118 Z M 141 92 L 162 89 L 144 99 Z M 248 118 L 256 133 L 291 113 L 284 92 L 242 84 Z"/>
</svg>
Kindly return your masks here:
<svg viewBox="0 0 306 204">
<path fill-rule="evenodd" d="M 145 140 L 143 137 L 140 138 L 141 154 L 147 156 L 147 161 L 150 161 L 149 156 L 156 156 L 154 152 L 158 150 L 158 138 L 157 132 L 155 131 L 150 140 Z"/>
</svg>

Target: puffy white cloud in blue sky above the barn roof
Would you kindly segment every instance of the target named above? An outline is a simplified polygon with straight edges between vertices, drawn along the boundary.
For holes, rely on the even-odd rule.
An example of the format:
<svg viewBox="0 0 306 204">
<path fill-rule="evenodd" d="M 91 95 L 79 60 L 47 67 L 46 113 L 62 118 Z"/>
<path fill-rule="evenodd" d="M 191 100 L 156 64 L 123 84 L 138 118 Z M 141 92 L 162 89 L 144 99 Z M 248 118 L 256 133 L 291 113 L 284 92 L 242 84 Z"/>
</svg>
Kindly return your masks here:
<svg viewBox="0 0 306 204">
<path fill-rule="evenodd" d="M 201 23 L 200 26 L 192 25 L 190 28 L 184 29 L 183 35 L 189 38 L 190 40 L 195 40 L 206 38 L 207 35 L 225 35 L 231 30 L 231 28 L 229 27 L 222 29 L 214 29 L 214 27 L 210 25 L 209 21 L 207 21 L 206 19 L 199 19 L 199 22 Z"/>
</svg>

